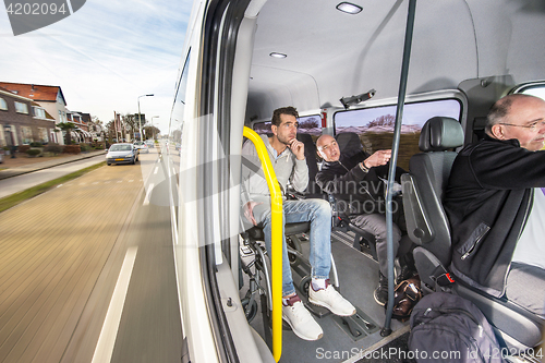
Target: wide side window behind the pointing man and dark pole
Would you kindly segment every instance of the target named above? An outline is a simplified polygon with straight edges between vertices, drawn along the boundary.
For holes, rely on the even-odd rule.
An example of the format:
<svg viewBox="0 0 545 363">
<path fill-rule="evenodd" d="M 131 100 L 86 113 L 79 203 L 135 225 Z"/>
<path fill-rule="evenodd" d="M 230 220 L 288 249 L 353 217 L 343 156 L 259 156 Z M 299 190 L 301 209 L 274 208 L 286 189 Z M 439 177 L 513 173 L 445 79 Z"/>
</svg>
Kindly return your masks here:
<svg viewBox="0 0 545 363">
<path fill-rule="evenodd" d="M 405 104 L 399 143 L 398 166 L 409 170 L 409 159 L 419 149 L 424 123 L 436 116 L 460 120 L 461 104 L 457 99 L 438 99 Z M 368 154 L 391 148 L 396 106 L 382 106 L 339 111 L 334 114 L 335 133 L 355 132 Z"/>
</svg>

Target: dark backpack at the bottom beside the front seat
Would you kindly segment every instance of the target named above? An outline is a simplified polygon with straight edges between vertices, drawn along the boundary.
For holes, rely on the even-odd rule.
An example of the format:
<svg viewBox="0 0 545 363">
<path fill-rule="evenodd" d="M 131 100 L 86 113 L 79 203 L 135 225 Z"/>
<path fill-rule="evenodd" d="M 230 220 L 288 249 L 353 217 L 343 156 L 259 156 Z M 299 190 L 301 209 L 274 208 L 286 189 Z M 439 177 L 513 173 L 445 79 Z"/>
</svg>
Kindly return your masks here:
<svg viewBox="0 0 545 363">
<path fill-rule="evenodd" d="M 416 362 L 504 362 L 483 313 L 469 300 L 434 292 L 414 306 L 409 349 Z"/>
</svg>

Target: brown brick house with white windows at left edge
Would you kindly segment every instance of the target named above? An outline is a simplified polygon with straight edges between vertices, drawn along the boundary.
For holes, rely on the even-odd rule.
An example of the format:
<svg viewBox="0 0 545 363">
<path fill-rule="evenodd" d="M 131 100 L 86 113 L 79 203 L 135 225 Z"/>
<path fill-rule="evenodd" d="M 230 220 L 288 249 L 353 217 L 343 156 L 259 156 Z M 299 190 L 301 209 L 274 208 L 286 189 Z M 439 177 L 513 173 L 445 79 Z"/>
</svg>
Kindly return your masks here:
<svg viewBox="0 0 545 363">
<path fill-rule="evenodd" d="M 0 146 L 55 141 L 55 118 L 31 98 L 0 86 Z"/>
</svg>

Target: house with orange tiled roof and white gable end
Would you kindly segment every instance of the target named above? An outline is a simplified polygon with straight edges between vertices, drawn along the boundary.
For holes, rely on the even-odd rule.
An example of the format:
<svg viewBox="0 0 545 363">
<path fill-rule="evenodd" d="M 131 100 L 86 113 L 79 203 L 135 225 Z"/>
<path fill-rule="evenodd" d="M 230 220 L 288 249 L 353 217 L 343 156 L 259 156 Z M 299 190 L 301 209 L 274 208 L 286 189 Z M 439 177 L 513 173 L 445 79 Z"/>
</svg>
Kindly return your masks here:
<svg viewBox="0 0 545 363">
<path fill-rule="evenodd" d="M 3 87 L 15 95 L 31 98 L 55 118 L 55 123 L 66 122 L 66 100 L 60 86 L 0 82 Z M 58 131 L 51 142 L 64 144 L 62 132 Z"/>
</svg>

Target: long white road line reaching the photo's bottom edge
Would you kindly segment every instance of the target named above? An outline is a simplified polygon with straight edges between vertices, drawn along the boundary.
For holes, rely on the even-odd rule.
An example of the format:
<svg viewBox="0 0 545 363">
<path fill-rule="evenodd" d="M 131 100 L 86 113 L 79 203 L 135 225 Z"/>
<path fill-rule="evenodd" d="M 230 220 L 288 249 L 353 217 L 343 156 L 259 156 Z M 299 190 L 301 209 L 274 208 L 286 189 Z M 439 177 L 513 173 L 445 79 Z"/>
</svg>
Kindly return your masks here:
<svg viewBox="0 0 545 363">
<path fill-rule="evenodd" d="M 126 250 L 125 259 L 121 266 L 116 288 L 113 289 L 113 294 L 110 300 L 110 305 L 108 306 L 108 312 L 106 313 L 102 330 L 100 331 L 92 363 L 105 363 L 111 360 L 137 251 L 138 247 L 136 246 Z"/>
</svg>

